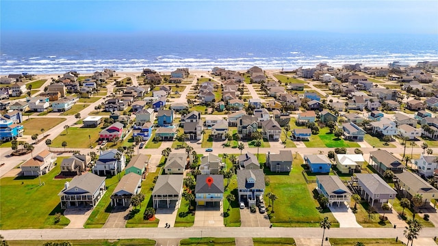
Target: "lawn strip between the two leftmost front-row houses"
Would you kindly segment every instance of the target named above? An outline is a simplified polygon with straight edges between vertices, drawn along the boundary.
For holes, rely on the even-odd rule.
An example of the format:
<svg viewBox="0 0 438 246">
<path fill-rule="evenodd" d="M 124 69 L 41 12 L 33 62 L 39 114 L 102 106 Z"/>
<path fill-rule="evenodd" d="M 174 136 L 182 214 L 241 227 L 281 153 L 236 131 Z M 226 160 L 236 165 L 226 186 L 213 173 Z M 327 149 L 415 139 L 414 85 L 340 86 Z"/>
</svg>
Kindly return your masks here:
<svg viewBox="0 0 438 246">
<path fill-rule="evenodd" d="M 112 206 L 110 204 L 111 195 L 114 189 L 116 189 L 119 181 L 118 178 L 119 177 L 116 175 L 105 180 L 107 191 L 105 191 L 105 194 L 103 195 L 99 203 L 94 207 L 90 217 L 88 217 L 84 225 L 85 228 L 102 228 L 108 217 L 110 217 L 110 213 L 112 210 Z"/>
</svg>

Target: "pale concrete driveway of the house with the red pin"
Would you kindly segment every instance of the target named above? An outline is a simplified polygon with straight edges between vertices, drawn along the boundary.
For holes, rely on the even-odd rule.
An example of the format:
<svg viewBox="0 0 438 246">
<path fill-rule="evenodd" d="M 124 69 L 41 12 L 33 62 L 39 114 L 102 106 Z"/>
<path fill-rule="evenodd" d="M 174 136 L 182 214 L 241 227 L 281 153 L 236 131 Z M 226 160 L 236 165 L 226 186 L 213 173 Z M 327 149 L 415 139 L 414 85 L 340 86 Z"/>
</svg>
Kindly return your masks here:
<svg viewBox="0 0 438 246">
<path fill-rule="evenodd" d="M 222 202 L 220 206 L 196 206 L 193 226 L 224 226 L 224 213 L 222 212 Z"/>
</svg>

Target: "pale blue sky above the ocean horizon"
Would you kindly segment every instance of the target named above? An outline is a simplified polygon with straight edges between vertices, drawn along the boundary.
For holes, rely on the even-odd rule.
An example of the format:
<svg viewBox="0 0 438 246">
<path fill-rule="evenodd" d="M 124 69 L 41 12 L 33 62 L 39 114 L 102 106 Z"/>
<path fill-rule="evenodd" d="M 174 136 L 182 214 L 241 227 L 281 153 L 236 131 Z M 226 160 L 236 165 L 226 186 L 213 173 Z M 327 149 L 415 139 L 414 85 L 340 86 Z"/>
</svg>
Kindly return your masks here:
<svg viewBox="0 0 438 246">
<path fill-rule="evenodd" d="M 1 31 L 438 34 L 438 1 L 0 1 Z"/>
</svg>

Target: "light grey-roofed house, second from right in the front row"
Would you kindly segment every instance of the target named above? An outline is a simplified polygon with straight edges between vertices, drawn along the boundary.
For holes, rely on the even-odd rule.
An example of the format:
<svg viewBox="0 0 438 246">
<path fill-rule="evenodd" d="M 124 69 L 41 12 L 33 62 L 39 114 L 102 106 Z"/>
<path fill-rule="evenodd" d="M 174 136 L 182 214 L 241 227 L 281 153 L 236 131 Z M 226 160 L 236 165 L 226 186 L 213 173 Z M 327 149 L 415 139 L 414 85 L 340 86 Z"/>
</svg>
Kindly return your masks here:
<svg viewBox="0 0 438 246">
<path fill-rule="evenodd" d="M 396 198 L 397 192 L 378 174 L 356 174 L 356 178 L 359 194 L 371 206 L 374 206 L 374 202 L 384 204 Z"/>
</svg>

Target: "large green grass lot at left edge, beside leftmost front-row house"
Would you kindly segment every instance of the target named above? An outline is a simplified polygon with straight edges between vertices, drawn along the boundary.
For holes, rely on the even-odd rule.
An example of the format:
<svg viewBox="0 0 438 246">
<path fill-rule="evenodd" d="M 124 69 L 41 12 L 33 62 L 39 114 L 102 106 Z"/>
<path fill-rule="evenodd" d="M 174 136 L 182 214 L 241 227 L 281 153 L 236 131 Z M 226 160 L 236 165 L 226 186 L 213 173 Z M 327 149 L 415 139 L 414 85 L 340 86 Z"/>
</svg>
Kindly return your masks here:
<svg viewBox="0 0 438 246">
<path fill-rule="evenodd" d="M 55 213 L 62 213 L 57 193 L 64 188 L 66 181 L 71 180 L 53 179 L 60 173 L 60 164 L 64 158 L 56 160 L 57 165 L 49 174 L 40 176 L 41 182 L 44 182 L 41 186 L 36 176 L 1 178 L 1 230 L 63 228 L 70 223 L 64 216 L 60 223 L 54 223 Z"/>
</svg>

